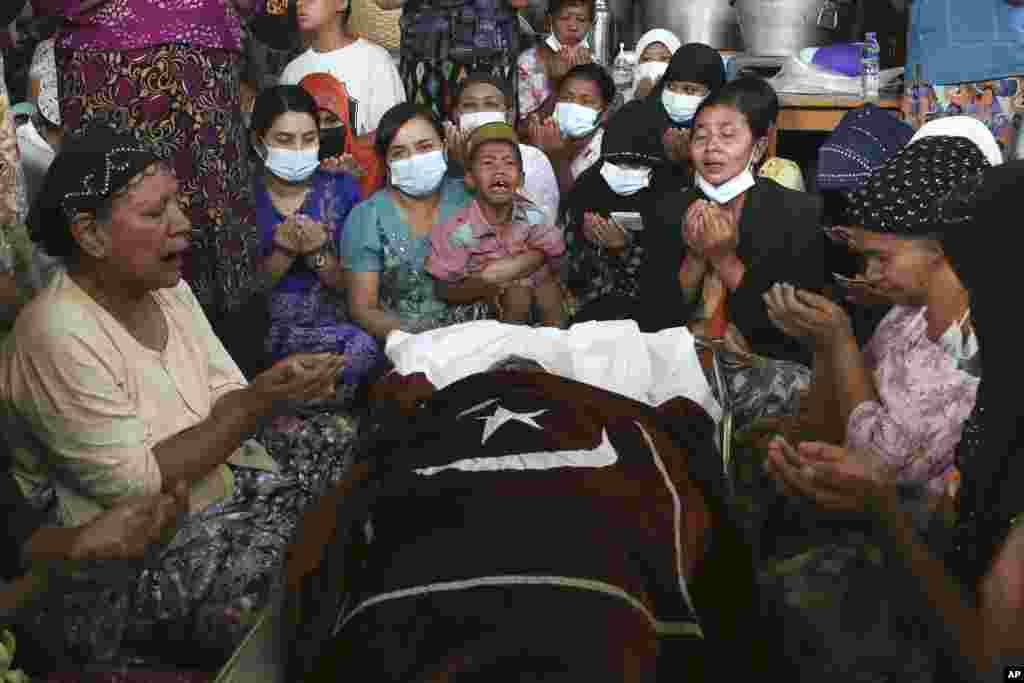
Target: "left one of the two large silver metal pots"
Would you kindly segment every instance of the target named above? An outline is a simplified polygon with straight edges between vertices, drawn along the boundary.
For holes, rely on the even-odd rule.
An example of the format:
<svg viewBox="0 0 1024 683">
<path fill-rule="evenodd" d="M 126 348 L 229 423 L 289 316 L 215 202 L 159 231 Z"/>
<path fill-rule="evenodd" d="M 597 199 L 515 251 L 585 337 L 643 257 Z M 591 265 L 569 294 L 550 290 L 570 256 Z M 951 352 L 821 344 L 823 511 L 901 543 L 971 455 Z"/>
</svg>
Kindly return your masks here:
<svg viewBox="0 0 1024 683">
<path fill-rule="evenodd" d="M 719 50 L 740 50 L 736 10 L 729 0 L 646 0 L 640 26 L 668 29 L 686 43 L 705 43 Z"/>
</svg>

